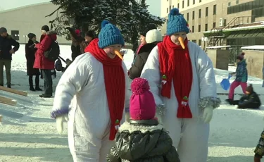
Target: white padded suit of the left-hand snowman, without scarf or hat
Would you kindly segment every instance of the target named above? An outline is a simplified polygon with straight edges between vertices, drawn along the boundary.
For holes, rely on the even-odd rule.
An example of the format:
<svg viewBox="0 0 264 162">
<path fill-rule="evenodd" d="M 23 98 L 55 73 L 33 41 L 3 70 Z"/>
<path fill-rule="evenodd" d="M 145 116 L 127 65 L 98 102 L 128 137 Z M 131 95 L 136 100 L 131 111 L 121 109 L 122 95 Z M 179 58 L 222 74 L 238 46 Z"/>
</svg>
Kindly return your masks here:
<svg viewBox="0 0 264 162">
<path fill-rule="evenodd" d="M 127 73 L 122 62 L 124 73 Z M 128 89 L 128 77 L 126 89 Z M 125 104 L 129 106 L 130 96 Z M 70 106 L 71 105 L 71 106 Z M 62 75 L 56 87 L 54 109 L 68 114 L 68 142 L 73 160 L 77 162 L 105 162 L 114 141 L 109 140 L 109 115 L 103 64 L 92 54 L 78 56 Z M 122 122 L 125 121 L 125 106 Z"/>
</svg>

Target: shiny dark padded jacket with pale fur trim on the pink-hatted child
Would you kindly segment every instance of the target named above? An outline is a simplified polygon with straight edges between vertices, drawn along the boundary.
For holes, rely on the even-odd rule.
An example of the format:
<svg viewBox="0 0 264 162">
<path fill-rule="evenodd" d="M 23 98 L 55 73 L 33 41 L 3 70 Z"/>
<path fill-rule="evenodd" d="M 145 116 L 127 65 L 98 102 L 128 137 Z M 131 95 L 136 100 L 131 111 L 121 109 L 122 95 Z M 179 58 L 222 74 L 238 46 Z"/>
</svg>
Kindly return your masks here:
<svg viewBox="0 0 264 162">
<path fill-rule="evenodd" d="M 172 139 L 158 120 L 131 120 L 123 123 L 108 162 L 180 162 Z"/>
</svg>

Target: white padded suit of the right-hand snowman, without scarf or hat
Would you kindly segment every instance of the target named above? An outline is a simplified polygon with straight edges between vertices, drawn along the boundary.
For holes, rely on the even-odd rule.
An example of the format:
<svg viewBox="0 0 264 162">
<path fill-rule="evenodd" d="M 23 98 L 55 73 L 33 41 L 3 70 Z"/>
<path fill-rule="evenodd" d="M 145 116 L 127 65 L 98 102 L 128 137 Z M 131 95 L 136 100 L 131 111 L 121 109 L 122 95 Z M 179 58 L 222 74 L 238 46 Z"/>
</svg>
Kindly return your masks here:
<svg viewBox="0 0 264 162">
<path fill-rule="evenodd" d="M 177 118 L 178 102 L 172 84 L 170 99 L 160 95 L 161 73 L 158 60 L 158 46 L 149 54 L 142 76 L 149 80 L 151 92 L 158 107 L 165 105 L 161 116 L 164 127 L 169 131 L 173 145 L 177 148 L 181 162 L 206 162 L 208 154 L 209 124 L 201 119 L 203 108 L 216 108 L 220 100 L 216 93 L 213 64 L 204 51 L 193 42 L 188 43 L 192 64 L 193 82 L 189 94 L 189 106 L 193 118 Z M 172 80 L 175 82 L 175 80 Z"/>
</svg>

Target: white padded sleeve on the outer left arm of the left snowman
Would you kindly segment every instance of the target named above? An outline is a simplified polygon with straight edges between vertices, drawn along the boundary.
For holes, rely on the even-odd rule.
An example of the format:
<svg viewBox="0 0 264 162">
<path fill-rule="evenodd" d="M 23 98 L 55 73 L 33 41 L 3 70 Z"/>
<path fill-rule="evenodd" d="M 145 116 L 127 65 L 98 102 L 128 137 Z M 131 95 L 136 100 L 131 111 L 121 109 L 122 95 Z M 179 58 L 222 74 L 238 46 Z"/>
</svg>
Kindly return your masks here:
<svg viewBox="0 0 264 162">
<path fill-rule="evenodd" d="M 70 103 L 73 96 L 82 90 L 88 82 L 89 61 L 85 55 L 77 57 L 65 70 L 56 87 L 54 106 L 51 110 L 51 118 L 63 116 L 70 111 Z"/>
</svg>

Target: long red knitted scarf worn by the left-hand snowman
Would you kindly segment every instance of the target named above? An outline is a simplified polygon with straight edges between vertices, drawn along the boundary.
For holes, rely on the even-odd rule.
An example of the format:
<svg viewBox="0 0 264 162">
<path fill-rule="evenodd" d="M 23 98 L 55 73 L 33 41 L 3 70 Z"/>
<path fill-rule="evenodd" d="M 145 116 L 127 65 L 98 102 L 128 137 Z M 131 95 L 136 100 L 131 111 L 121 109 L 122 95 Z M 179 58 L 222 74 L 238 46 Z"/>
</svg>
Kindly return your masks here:
<svg viewBox="0 0 264 162">
<path fill-rule="evenodd" d="M 103 64 L 104 84 L 111 118 L 110 140 L 115 139 L 118 132 L 122 113 L 125 107 L 125 73 L 122 68 L 122 60 L 115 56 L 109 58 L 103 49 L 99 49 L 99 39 L 94 39 L 85 49 Z M 100 114 L 98 114 L 100 116 Z"/>
</svg>

